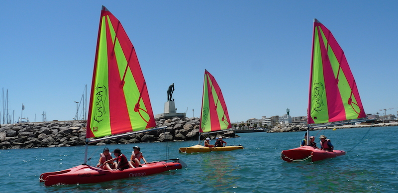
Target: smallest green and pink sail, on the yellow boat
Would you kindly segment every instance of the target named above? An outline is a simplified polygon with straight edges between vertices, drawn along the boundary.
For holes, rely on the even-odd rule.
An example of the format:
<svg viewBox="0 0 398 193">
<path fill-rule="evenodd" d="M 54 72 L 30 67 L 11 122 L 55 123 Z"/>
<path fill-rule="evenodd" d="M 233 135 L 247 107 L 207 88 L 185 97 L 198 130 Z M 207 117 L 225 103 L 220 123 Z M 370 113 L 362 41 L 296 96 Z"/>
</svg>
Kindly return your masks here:
<svg viewBox="0 0 398 193">
<path fill-rule="evenodd" d="M 205 69 L 199 132 L 230 129 L 227 106 L 214 77 Z"/>
</svg>

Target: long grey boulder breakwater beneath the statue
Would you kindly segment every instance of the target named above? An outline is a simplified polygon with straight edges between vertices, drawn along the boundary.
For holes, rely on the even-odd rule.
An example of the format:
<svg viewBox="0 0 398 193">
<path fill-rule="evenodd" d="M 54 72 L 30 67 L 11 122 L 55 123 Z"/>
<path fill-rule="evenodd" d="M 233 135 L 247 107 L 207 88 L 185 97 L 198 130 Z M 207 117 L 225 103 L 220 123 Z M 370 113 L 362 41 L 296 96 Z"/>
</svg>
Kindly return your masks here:
<svg viewBox="0 0 398 193">
<path fill-rule="evenodd" d="M 0 126 L 0 149 L 84 145 L 86 124 L 87 121 L 3 124 Z M 156 120 L 156 125 L 167 128 L 106 139 L 90 145 L 198 140 L 199 137 L 199 118 L 160 119 Z M 201 135 L 200 139 L 204 137 L 213 139 L 216 136 L 229 138 L 235 137 L 235 133 L 229 130 Z"/>
</svg>

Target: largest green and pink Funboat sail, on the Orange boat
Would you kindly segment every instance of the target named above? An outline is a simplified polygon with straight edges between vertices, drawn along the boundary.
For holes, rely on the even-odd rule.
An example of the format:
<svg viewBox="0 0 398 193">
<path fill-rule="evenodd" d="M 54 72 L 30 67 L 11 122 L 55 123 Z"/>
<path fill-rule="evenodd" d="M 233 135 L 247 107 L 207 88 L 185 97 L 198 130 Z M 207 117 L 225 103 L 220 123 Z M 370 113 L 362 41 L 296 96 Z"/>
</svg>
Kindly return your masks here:
<svg viewBox="0 0 398 193">
<path fill-rule="evenodd" d="M 87 138 L 156 127 L 134 46 L 104 6 L 87 122 Z"/>
</svg>

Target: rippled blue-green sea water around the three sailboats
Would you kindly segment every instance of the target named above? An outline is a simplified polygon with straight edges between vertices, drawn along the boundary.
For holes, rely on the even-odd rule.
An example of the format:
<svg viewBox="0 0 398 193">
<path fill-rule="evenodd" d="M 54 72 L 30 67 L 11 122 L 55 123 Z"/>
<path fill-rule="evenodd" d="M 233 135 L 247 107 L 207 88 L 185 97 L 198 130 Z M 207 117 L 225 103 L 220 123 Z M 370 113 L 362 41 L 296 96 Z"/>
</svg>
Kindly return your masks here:
<svg viewBox="0 0 398 193">
<path fill-rule="evenodd" d="M 180 158 L 182 170 L 98 184 L 44 187 L 43 172 L 77 166 L 83 162 L 84 146 L 0 150 L 0 182 L 4 193 L 291 193 L 291 192 L 398 192 L 398 127 L 310 131 L 325 134 L 335 149 L 348 153 L 318 162 L 288 163 L 281 151 L 297 147 L 304 132 L 239 133 L 228 145 L 245 149 L 196 154 L 179 153 L 179 147 L 197 141 L 139 143 L 148 162 Z M 362 137 L 364 137 L 362 139 Z M 318 139 L 316 140 L 319 143 Z M 359 144 L 358 144 L 359 142 Z M 354 149 L 352 149 L 358 144 Z M 130 155 L 132 146 L 107 145 Z M 88 164 L 95 165 L 104 146 L 90 146 Z M 351 150 L 352 149 L 352 150 Z"/>
</svg>

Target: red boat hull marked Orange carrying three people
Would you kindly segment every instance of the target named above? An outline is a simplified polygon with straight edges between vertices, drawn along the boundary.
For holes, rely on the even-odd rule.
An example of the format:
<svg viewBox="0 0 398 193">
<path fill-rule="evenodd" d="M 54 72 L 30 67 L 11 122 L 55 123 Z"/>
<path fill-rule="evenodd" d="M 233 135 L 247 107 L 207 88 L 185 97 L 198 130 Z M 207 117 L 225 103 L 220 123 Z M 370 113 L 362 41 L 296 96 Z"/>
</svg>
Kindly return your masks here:
<svg viewBox="0 0 398 193">
<path fill-rule="evenodd" d="M 79 165 L 67 170 L 43 173 L 40 175 L 40 182 L 44 182 L 45 186 L 57 184 L 90 184 L 147 176 L 181 168 L 182 165 L 178 162 L 154 162 L 143 164 L 142 167 L 138 168 L 116 171 L 102 170 L 89 165 Z"/>
</svg>

